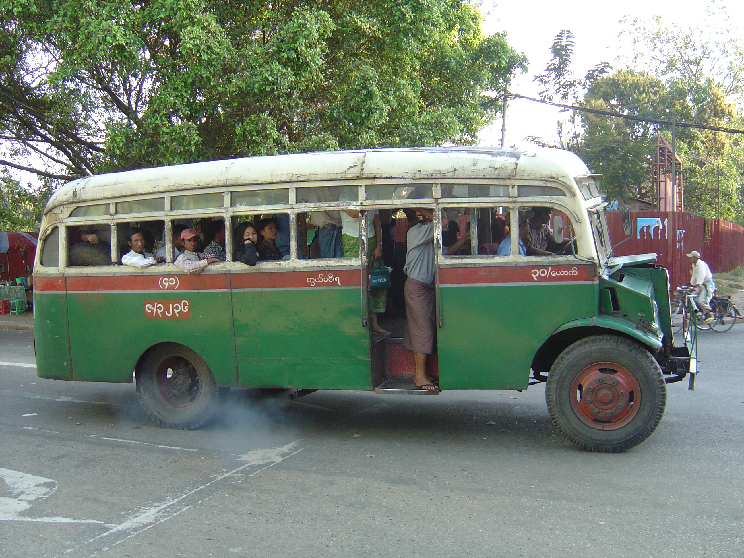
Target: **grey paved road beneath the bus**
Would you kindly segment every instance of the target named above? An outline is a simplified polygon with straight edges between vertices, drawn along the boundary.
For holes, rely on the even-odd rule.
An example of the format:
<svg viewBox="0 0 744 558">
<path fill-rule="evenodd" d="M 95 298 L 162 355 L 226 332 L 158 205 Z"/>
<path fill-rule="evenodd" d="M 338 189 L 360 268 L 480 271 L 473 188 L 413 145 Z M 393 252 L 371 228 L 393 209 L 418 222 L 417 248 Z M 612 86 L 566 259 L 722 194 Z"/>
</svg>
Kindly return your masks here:
<svg viewBox="0 0 744 558">
<path fill-rule="evenodd" d="M 0 361 L 31 365 L 31 334 L 0 331 Z M 179 432 L 133 385 L 3 365 L 0 556 L 741 557 L 743 348 L 702 333 L 696 391 L 615 455 L 557 437 L 542 386 L 233 394 Z"/>
</svg>

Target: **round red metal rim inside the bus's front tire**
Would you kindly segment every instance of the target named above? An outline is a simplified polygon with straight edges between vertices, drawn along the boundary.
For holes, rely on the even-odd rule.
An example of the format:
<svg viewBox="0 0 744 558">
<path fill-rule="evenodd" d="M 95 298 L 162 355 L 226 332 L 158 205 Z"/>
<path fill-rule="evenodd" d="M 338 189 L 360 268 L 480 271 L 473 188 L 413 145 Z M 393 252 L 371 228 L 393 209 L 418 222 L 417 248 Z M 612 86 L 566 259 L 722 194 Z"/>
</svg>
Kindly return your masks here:
<svg viewBox="0 0 744 558">
<path fill-rule="evenodd" d="M 571 385 L 571 406 L 579 419 L 597 430 L 629 423 L 641 405 L 641 386 L 632 372 L 614 362 L 583 369 Z"/>
</svg>

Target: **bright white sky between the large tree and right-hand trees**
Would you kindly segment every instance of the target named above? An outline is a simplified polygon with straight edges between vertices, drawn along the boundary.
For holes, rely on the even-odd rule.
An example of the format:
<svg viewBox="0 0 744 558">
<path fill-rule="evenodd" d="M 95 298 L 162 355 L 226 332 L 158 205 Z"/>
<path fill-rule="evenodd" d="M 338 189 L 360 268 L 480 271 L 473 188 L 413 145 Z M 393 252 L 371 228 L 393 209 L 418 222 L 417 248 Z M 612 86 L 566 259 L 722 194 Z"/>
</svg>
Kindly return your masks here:
<svg viewBox="0 0 744 558">
<path fill-rule="evenodd" d="M 724 5 L 732 22 L 744 22 L 744 1 L 716 1 Z M 484 32 L 507 33 L 509 44 L 522 51 L 529 60 L 527 74 L 513 80 L 510 92 L 537 97 L 538 85 L 533 83 L 536 74 L 545 70 L 551 58 L 550 48 L 554 37 L 562 29 L 574 33 L 574 57 L 571 68 L 577 77 L 583 77 L 599 62 L 609 62 L 620 68 L 618 62 L 629 56 L 628 44 L 618 39 L 623 28 L 620 20 L 639 18 L 648 20 L 662 16 L 685 28 L 694 27 L 705 17 L 708 2 L 705 0 L 623 0 L 607 2 L 597 0 L 482 0 Z M 742 29 L 744 23 L 739 26 Z M 556 143 L 557 121 L 565 118 L 557 108 L 529 100 L 513 100 L 507 108 L 507 145 L 529 148 L 533 144 L 523 141 L 535 135 Z M 479 135 L 481 145 L 501 145 L 501 118 L 483 129 Z"/>
</svg>

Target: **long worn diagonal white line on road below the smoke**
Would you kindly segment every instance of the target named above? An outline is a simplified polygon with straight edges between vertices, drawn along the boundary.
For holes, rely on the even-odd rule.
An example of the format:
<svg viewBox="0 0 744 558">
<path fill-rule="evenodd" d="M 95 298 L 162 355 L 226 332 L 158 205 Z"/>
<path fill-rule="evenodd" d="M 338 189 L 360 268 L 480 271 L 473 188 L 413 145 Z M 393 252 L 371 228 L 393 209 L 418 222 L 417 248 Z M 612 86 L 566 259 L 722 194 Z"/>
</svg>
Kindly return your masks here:
<svg viewBox="0 0 744 558">
<path fill-rule="evenodd" d="M 269 464 L 266 464 L 266 466 L 261 467 L 257 471 L 251 472 L 251 474 L 248 475 L 248 477 L 257 475 L 261 471 L 268 469 L 269 467 L 274 466 L 280 463 L 281 461 L 284 461 L 286 458 L 290 458 L 292 457 L 292 455 L 298 454 L 303 449 L 310 447 L 309 445 L 304 446 L 303 448 L 295 450 L 292 453 L 287 453 L 291 451 L 291 449 L 295 447 L 300 441 L 301 440 L 295 440 L 294 442 L 288 443 L 286 446 L 281 446 L 279 448 L 254 450 L 255 455 L 259 455 L 259 454 L 266 455 L 266 456 L 273 455 L 275 457 L 275 461 L 271 461 Z M 246 455 L 250 455 L 251 453 L 254 453 L 254 452 L 248 452 L 248 454 Z M 213 480 L 209 481 L 208 483 L 202 484 L 200 487 L 187 490 L 185 493 L 182 493 L 180 496 L 176 496 L 175 498 L 169 498 L 168 500 L 162 502 L 161 504 L 155 504 L 154 506 L 144 508 L 144 510 L 141 510 L 140 513 L 133 516 L 131 519 L 128 519 L 126 522 L 122 523 L 121 525 L 116 525 L 110 528 L 109 530 L 107 530 L 106 533 L 101 533 L 98 536 L 94 536 L 92 539 L 89 539 L 86 542 L 81 543 L 80 545 L 74 546 L 73 548 L 68 548 L 68 550 L 66 550 L 64 554 L 68 554 L 74 550 L 77 550 L 78 548 L 81 548 L 85 545 L 89 545 L 91 542 L 97 541 L 98 539 L 102 539 L 105 536 L 113 535 L 115 533 L 125 533 L 125 532 L 129 533 L 127 536 L 125 536 L 122 539 L 119 539 L 118 541 L 114 542 L 112 545 L 109 545 L 107 547 L 100 549 L 100 551 L 107 551 L 109 550 L 109 548 L 119 545 L 122 542 L 128 539 L 131 539 L 134 536 L 137 536 L 139 533 L 142 533 L 145 530 L 148 530 L 151 527 L 154 527 L 155 525 L 165 522 L 168 519 L 171 519 L 177 516 L 179 513 L 182 513 L 185 510 L 190 509 L 190 506 L 185 506 L 185 507 L 179 508 L 178 510 L 168 511 L 169 507 L 173 507 L 174 505 L 183 501 L 185 498 L 188 498 L 189 496 L 192 496 L 193 494 L 196 494 L 202 490 L 205 490 L 205 488 L 210 487 L 212 484 L 222 481 L 225 478 L 236 476 L 237 473 L 239 473 L 240 471 L 243 471 L 243 469 L 246 469 L 249 466 L 264 464 L 265 461 L 261 461 L 262 459 L 263 458 L 256 458 L 252 461 L 248 461 L 248 463 L 237 467 L 237 469 L 232 469 L 229 472 L 225 472 L 222 475 L 217 476 L 217 478 L 214 478 Z"/>
</svg>

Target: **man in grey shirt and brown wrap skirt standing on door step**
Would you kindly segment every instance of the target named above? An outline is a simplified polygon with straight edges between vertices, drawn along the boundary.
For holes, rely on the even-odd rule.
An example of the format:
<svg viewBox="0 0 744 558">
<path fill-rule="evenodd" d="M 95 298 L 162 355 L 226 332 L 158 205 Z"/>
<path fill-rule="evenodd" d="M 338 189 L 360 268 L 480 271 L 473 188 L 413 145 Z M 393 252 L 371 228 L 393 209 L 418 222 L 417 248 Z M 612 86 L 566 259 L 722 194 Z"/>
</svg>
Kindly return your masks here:
<svg viewBox="0 0 744 558">
<path fill-rule="evenodd" d="M 437 343 L 436 303 L 434 298 L 434 211 L 414 208 L 419 222 L 405 236 L 408 255 L 403 272 L 408 275 L 405 295 L 405 333 L 403 347 L 414 353 L 414 384 L 426 391 L 437 390 L 434 380 L 426 376 L 426 355 L 434 353 Z M 442 226 L 449 219 L 442 217 Z"/>
</svg>

